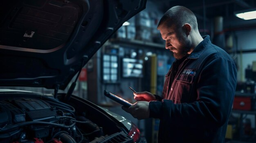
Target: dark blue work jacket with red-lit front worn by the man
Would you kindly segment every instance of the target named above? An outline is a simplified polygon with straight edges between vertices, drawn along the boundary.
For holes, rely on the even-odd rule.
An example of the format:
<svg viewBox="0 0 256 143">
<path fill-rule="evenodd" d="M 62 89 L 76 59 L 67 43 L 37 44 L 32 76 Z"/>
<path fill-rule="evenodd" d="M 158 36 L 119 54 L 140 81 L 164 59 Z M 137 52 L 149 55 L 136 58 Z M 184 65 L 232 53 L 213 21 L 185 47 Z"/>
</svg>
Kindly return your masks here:
<svg viewBox="0 0 256 143">
<path fill-rule="evenodd" d="M 150 101 L 160 119 L 159 143 L 224 143 L 236 89 L 236 66 L 210 37 L 181 63 L 173 81 L 166 75 L 163 100 Z M 174 63 L 175 64 L 175 63 Z"/>
</svg>

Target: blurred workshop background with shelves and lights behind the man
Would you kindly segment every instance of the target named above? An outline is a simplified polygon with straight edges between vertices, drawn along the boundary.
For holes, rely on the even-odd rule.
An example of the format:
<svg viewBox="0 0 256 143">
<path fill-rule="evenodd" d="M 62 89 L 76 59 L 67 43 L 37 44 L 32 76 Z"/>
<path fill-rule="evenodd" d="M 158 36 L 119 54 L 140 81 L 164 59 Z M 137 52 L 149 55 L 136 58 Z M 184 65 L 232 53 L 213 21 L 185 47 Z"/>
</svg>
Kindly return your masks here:
<svg viewBox="0 0 256 143">
<path fill-rule="evenodd" d="M 141 142 L 157 143 L 159 120 L 133 118 L 104 96 L 104 90 L 132 103 L 135 100 L 129 87 L 162 95 L 165 75 L 175 58 L 165 49 L 157 24 L 169 8 L 177 5 L 195 13 L 200 34 L 210 35 L 211 42 L 229 53 L 237 66 L 226 143 L 256 143 L 256 19 L 237 17 L 238 13 L 256 10 L 255 0 L 148 0 L 146 9 L 125 22 L 83 67 L 73 95 L 135 123 Z M 8 88 L 53 93 L 46 88 Z"/>
</svg>

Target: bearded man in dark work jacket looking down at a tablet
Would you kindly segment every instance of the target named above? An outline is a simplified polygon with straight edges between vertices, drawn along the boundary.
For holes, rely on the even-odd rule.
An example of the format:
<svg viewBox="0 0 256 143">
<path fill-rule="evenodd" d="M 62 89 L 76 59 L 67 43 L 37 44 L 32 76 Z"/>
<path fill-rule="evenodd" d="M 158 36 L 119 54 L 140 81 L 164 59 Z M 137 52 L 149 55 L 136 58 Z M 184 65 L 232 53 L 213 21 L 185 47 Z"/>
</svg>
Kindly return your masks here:
<svg viewBox="0 0 256 143">
<path fill-rule="evenodd" d="M 133 93 L 137 102 L 123 110 L 137 119 L 160 119 L 159 143 L 224 143 L 236 88 L 231 57 L 201 37 L 186 7 L 169 9 L 157 29 L 173 52 L 163 95 Z"/>
</svg>

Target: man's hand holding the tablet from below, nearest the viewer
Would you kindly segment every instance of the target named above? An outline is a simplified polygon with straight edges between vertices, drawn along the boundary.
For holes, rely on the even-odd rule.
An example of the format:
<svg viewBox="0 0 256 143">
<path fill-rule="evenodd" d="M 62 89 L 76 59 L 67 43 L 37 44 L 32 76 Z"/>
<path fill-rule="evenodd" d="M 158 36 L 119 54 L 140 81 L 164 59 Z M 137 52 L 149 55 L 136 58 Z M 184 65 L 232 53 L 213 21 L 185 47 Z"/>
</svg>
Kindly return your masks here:
<svg viewBox="0 0 256 143">
<path fill-rule="evenodd" d="M 132 114 L 134 118 L 146 119 L 149 117 L 149 102 L 148 101 L 137 101 L 129 108 L 122 106 L 122 109 Z"/>
</svg>

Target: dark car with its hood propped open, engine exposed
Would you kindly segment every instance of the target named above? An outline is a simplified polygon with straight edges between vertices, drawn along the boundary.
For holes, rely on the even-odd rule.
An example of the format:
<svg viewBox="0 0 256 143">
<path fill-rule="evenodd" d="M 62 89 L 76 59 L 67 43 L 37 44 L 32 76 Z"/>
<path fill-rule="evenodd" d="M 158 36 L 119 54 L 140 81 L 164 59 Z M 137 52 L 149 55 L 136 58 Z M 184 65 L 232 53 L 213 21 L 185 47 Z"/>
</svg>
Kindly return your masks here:
<svg viewBox="0 0 256 143">
<path fill-rule="evenodd" d="M 138 142 L 136 125 L 72 92 L 77 73 L 145 5 L 146 0 L 1 1 L 0 86 L 43 87 L 52 94 L 1 89 L 0 142 Z M 67 93 L 58 92 L 66 87 Z"/>
</svg>

